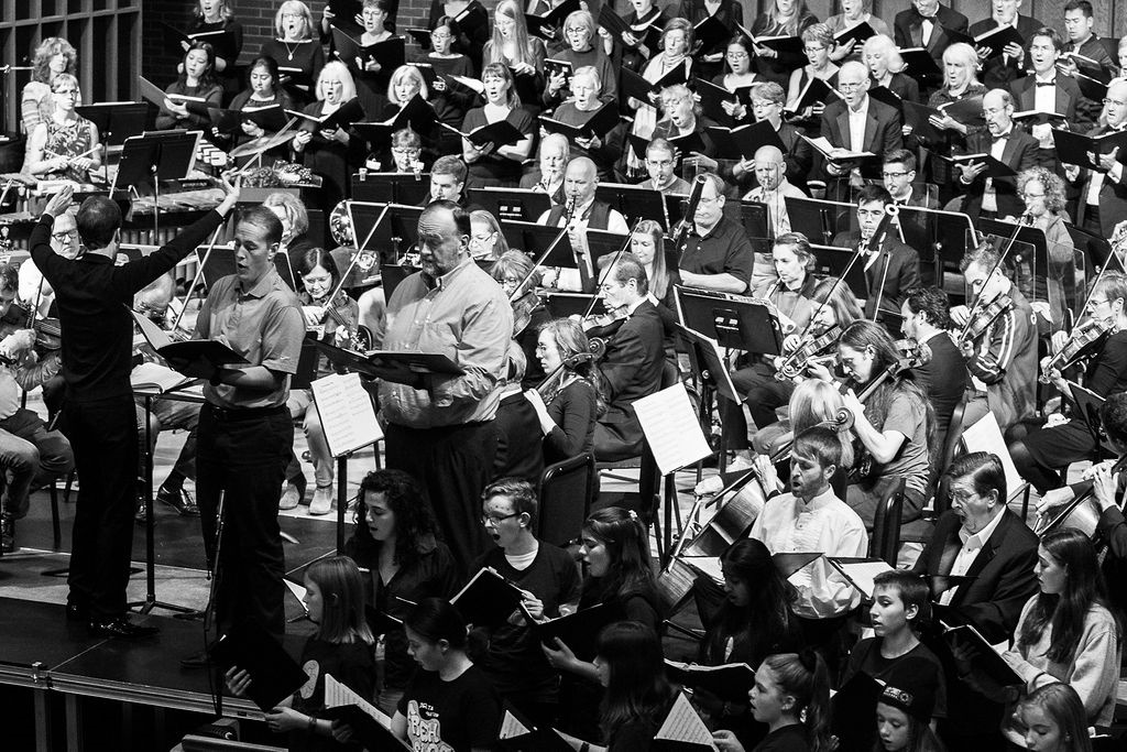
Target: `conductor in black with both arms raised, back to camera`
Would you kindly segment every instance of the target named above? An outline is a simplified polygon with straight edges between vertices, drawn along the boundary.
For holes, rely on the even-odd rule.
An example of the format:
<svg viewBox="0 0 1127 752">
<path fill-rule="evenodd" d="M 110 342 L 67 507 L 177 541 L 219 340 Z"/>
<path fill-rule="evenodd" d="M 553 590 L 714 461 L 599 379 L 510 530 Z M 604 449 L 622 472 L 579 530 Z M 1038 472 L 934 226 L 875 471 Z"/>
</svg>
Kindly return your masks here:
<svg viewBox="0 0 1127 752">
<path fill-rule="evenodd" d="M 62 374 L 66 384 L 63 432 L 74 450 L 82 485 L 71 536 L 66 618 L 87 621 L 94 635 L 151 635 L 125 617 L 125 586 L 133 548 L 136 499 L 137 424 L 130 371 L 133 366 L 133 295 L 176 266 L 234 207 L 239 191 L 224 183 L 222 203 L 156 253 L 115 266 L 122 212 L 105 196 L 78 210 L 85 254 L 70 260 L 51 247 L 55 218 L 71 204 L 73 189 L 51 197 L 32 230 L 32 259 L 59 304 Z"/>
</svg>

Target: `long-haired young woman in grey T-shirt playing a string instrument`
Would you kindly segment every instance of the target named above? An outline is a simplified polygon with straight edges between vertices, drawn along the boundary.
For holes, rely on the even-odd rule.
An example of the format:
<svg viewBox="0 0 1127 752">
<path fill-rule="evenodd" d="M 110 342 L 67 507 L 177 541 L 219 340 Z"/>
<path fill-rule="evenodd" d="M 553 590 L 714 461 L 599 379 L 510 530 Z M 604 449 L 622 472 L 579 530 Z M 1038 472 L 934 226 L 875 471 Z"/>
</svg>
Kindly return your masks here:
<svg viewBox="0 0 1127 752">
<path fill-rule="evenodd" d="M 854 321 L 837 340 L 837 353 L 858 392 L 893 372 L 864 402 L 854 391 L 844 397 L 862 450 L 854 465 L 857 481 L 846 490 L 845 501 L 871 527 L 877 505 L 903 479 L 900 521 L 905 525 L 916 522 L 931 494 L 929 451 L 935 439 L 931 402 L 911 372 L 896 371 L 899 351 L 880 325 Z"/>
</svg>

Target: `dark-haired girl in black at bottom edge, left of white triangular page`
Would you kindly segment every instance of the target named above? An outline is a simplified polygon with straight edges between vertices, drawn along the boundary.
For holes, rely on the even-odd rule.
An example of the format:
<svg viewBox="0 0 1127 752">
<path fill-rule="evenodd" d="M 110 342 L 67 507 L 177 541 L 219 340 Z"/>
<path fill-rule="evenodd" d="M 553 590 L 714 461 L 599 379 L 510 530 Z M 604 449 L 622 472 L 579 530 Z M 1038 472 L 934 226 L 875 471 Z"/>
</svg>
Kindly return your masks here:
<svg viewBox="0 0 1127 752">
<path fill-rule="evenodd" d="M 600 726 L 607 752 L 647 752 L 673 705 L 657 634 L 638 621 L 612 623 L 595 656 L 603 685 Z"/>
</svg>

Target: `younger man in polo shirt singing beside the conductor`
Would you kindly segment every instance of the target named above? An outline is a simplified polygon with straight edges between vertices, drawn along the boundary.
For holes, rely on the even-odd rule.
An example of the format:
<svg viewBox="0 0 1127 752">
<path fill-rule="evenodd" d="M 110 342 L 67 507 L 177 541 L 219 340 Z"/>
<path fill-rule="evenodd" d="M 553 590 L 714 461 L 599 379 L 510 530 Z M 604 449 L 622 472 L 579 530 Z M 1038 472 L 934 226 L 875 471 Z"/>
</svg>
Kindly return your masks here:
<svg viewBox="0 0 1127 752">
<path fill-rule="evenodd" d="M 251 622 L 277 637 L 285 632 L 277 507 L 293 446 L 285 402 L 305 336 L 298 297 L 274 267 L 281 242 L 282 222 L 270 210 L 242 213 L 234 230 L 236 272 L 212 285 L 195 334 L 225 343 L 247 361 L 212 375 L 197 427 L 196 501 L 207 560 L 219 577 L 216 621 L 221 630 Z"/>
</svg>

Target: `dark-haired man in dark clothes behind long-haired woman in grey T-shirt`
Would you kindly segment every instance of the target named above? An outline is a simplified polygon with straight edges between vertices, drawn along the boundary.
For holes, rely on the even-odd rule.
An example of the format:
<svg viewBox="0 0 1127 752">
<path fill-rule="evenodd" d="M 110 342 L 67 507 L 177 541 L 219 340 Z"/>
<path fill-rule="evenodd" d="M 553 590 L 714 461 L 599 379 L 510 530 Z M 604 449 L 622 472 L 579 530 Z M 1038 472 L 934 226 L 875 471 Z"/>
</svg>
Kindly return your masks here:
<svg viewBox="0 0 1127 752">
<path fill-rule="evenodd" d="M 955 406 L 962 399 L 970 377 L 959 348 L 955 346 L 950 304 L 939 287 L 912 287 L 900 304 L 900 331 L 926 345 L 931 360 L 912 369 L 935 410 L 935 442 L 932 459 L 941 458 Z"/>
</svg>

